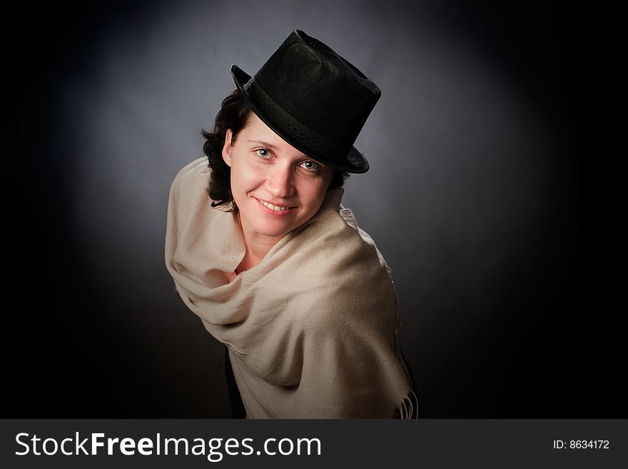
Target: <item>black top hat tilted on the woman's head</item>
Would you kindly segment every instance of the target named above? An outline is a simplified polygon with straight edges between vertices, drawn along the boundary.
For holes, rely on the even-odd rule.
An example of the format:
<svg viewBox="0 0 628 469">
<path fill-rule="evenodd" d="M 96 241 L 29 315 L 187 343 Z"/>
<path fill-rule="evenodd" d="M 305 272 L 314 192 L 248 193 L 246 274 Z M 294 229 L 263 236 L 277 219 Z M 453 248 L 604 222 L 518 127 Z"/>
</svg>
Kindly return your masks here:
<svg viewBox="0 0 628 469">
<path fill-rule="evenodd" d="M 298 29 L 253 78 L 231 66 L 255 114 L 310 158 L 348 173 L 368 161 L 353 143 L 382 92 L 318 39 Z"/>
</svg>

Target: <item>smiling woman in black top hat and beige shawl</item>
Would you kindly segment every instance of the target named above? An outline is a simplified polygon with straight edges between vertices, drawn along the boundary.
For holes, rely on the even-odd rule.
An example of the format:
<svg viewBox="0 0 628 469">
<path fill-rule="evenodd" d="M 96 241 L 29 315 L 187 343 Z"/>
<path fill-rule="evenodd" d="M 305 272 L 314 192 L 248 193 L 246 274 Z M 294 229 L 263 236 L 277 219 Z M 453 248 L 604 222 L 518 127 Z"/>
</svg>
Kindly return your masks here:
<svg viewBox="0 0 628 469">
<path fill-rule="evenodd" d="M 228 349 L 247 418 L 408 418 L 395 291 L 340 206 L 380 89 L 293 31 L 251 78 L 237 66 L 201 158 L 173 181 L 166 265 Z"/>
</svg>

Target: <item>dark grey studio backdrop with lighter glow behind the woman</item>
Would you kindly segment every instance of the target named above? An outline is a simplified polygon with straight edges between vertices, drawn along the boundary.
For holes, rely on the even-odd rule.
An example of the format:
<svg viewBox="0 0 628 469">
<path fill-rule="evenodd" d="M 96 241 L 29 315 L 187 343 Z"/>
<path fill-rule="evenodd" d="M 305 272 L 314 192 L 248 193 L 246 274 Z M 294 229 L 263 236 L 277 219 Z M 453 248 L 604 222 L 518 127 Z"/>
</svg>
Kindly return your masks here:
<svg viewBox="0 0 628 469">
<path fill-rule="evenodd" d="M 0 412 L 229 417 L 163 265 L 201 128 L 293 29 L 383 94 L 343 204 L 424 417 L 626 418 L 626 4 L 3 2 Z"/>
</svg>

